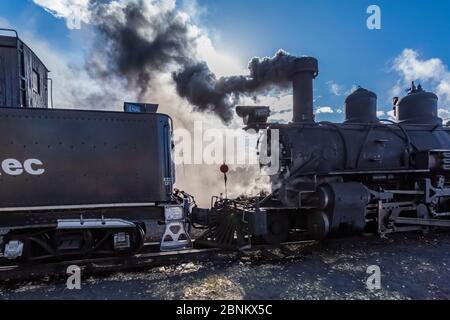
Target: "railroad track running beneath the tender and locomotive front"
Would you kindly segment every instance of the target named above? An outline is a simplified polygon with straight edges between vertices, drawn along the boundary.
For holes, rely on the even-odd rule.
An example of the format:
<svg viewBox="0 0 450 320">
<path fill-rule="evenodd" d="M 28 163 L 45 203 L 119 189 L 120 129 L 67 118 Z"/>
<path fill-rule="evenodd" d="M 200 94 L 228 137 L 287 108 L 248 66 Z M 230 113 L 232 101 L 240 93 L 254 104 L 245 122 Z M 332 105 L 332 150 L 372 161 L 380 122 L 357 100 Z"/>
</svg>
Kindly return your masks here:
<svg viewBox="0 0 450 320">
<path fill-rule="evenodd" d="M 273 249 L 289 251 L 293 245 L 311 245 L 315 241 L 295 241 L 283 243 L 280 246 L 254 245 L 245 251 L 224 251 L 218 248 L 201 248 L 172 252 L 152 252 L 159 243 L 148 243 L 143 252 L 130 257 L 105 257 L 90 259 L 74 259 L 59 262 L 39 264 L 11 264 L 0 265 L 0 281 L 3 283 L 25 281 L 44 278 L 46 276 L 58 277 L 66 275 L 67 268 L 72 265 L 79 266 L 83 276 L 106 272 L 132 271 L 142 268 L 159 267 L 192 261 L 223 260 L 224 255 L 237 256 L 255 251 L 262 251 L 264 257 L 274 257 L 270 253 Z"/>
</svg>

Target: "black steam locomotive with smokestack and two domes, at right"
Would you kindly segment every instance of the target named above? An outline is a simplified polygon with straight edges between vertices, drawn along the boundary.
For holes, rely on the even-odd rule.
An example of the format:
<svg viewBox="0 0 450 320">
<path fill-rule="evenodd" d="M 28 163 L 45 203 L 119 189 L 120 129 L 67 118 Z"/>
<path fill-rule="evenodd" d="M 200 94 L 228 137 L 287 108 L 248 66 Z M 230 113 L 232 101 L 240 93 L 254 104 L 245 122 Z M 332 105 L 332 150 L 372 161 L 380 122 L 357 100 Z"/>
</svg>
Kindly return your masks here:
<svg viewBox="0 0 450 320">
<path fill-rule="evenodd" d="M 396 121 L 380 120 L 377 96 L 359 88 L 345 101 L 344 123 L 317 123 L 317 75 L 316 59 L 297 59 L 289 124 L 267 123 L 268 107 L 237 108 L 247 130 L 264 130 L 261 145 L 279 168 L 269 195 L 218 202 L 204 240 L 230 246 L 236 239 L 245 245 L 249 238 L 280 243 L 295 235 L 385 236 L 450 227 L 450 128 L 437 115 L 438 97 L 413 84 L 405 97 L 394 98 Z M 274 134 L 277 150 L 270 149 Z"/>
</svg>

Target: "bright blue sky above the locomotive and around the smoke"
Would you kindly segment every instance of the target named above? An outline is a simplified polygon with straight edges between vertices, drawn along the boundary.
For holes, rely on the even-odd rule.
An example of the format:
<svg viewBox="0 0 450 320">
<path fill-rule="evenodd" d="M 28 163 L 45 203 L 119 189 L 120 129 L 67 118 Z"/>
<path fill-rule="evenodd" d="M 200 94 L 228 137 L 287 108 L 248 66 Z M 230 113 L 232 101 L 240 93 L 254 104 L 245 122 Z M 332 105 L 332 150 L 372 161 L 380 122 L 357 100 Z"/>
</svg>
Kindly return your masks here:
<svg viewBox="0 0 450 320">
<path fill-rule="evenodd" d="M 389 110 L 391 90 L 399 81 L 392 65 L 405 48 L 413 49 L 424 61 L 438 58 L 443 66 L 450 63 L 450 1 L 446 0 L 197 3 L 203 8 L 197 24 L 208 31 L 216 50 L 231 54 L 242 65 L 253 56 L 270 56 L 280 48 L 317 57 L 317 106 L 337 109 L 343 105 L 345 92 L 361 85 L 378 94 L 380 109 Z M 381 30 L 366 27 L 366 9 L 371 4 L 381 8 Z M 68 30 L 63 19 L 55 18 L 31 0 L 0 0 L 0 17 L 21 32 L 39 35 L 60 52 L 81 57 L 87 50 L 80 31 Z M 433 81 L 431 87 L 439 83 Z M 340 88 L 340 95 L 330 90 L 332 84 Z M 341 115 L 326 117 L 339 120 Z"/>
</svg>

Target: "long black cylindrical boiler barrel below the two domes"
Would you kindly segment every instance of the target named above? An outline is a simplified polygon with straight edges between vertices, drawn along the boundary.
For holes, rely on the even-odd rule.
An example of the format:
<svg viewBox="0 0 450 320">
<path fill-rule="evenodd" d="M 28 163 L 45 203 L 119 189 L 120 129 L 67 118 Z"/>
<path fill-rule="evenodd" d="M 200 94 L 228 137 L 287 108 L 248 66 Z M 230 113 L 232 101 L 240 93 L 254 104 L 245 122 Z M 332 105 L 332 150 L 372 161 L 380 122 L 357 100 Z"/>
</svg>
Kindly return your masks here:
<svg viewBox="0 0 450 320">
<path fill-rule="evenodd" d="M 314 124 L 279 129 L 292 153 L 289 167 L 297 174 L 414 169 L 409 153 L 450 148 L 447 127 Z"/>
</svg>

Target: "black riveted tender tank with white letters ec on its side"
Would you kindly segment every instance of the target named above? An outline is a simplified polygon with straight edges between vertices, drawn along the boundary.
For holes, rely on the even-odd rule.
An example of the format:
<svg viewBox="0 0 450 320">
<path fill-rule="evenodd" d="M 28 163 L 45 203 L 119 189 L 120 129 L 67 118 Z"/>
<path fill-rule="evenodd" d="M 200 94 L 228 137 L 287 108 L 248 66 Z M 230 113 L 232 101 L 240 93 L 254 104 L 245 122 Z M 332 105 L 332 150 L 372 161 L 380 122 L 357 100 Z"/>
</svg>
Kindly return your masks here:
<svg viewBox="0 0 450 320">
<path fill-rule="evenodd" d="M 38 159 L 41 175 L 2 170 L 5 207 L 166 202 L 172 192 L 169 117 L 0 108 L 2 159 Z"/>
</svg>

